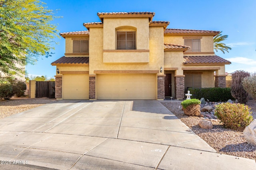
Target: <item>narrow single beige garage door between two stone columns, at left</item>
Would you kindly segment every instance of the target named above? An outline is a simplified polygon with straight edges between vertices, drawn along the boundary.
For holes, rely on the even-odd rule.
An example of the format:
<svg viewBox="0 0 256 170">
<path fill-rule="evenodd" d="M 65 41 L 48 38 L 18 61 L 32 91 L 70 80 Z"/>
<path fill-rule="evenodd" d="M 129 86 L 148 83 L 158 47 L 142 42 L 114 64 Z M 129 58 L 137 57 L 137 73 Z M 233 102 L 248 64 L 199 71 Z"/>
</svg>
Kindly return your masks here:
<svg viewBox="0 0 256 170">
<path fill-rule="evenodd" d="M 64 74 L 63 99 L 89 99 L 89 74 Z"/>
</svg>

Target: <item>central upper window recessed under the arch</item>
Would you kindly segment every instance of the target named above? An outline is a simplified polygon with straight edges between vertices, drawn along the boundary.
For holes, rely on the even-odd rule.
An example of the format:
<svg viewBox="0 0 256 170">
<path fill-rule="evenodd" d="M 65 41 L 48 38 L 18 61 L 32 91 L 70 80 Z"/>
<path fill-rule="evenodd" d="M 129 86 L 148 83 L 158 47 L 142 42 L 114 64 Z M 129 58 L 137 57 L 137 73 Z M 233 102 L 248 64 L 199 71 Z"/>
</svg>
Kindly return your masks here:
<svg viewBox="0 0 256 170">
<path fill-rule="evenodd" d="M 116 31 L 116 49 L 136 49 L 136 31 Z"/>
</svg>

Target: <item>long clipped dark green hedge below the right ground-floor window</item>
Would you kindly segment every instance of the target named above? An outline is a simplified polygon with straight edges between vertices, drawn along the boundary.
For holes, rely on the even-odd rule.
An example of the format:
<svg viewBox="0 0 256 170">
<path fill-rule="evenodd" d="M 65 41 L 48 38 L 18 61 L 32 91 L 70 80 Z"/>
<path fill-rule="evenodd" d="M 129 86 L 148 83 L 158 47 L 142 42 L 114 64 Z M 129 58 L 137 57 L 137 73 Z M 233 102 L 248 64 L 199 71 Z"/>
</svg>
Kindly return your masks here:
<svg viewBox="0 0 256 170">
<path fill-rule="evenodd" d="M 189 88 L 192 99 L 204 98 L 211 102 L 234 100 L 230 88 Z"/>
</svg>

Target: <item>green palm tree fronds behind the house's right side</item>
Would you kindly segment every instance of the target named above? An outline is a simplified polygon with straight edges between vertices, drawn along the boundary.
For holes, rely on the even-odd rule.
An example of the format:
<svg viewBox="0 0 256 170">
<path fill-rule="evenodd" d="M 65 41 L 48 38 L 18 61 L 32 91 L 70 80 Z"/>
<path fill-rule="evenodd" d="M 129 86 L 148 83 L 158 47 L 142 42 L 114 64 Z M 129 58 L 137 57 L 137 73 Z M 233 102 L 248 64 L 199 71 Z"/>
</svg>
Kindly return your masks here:
<svg viewBox="0 0 256 170">
<path fill-rule="evenodd" d="M 228 35 L 222 35 L 221 34 L 222 31 L 220 31 L 220 33 L 218 33 L 214 38 L 213 38 L 213 47 L 215 49 L 216 52 L 218 52 L 218 50 L 222 51 L 222 53 L 225 54 L 224 51 L 231 50 L 231 47 L 226 46 L 226 44 L 222 43 L 222 41 L 226 40 L 228 38 Z"/>
</svg>

